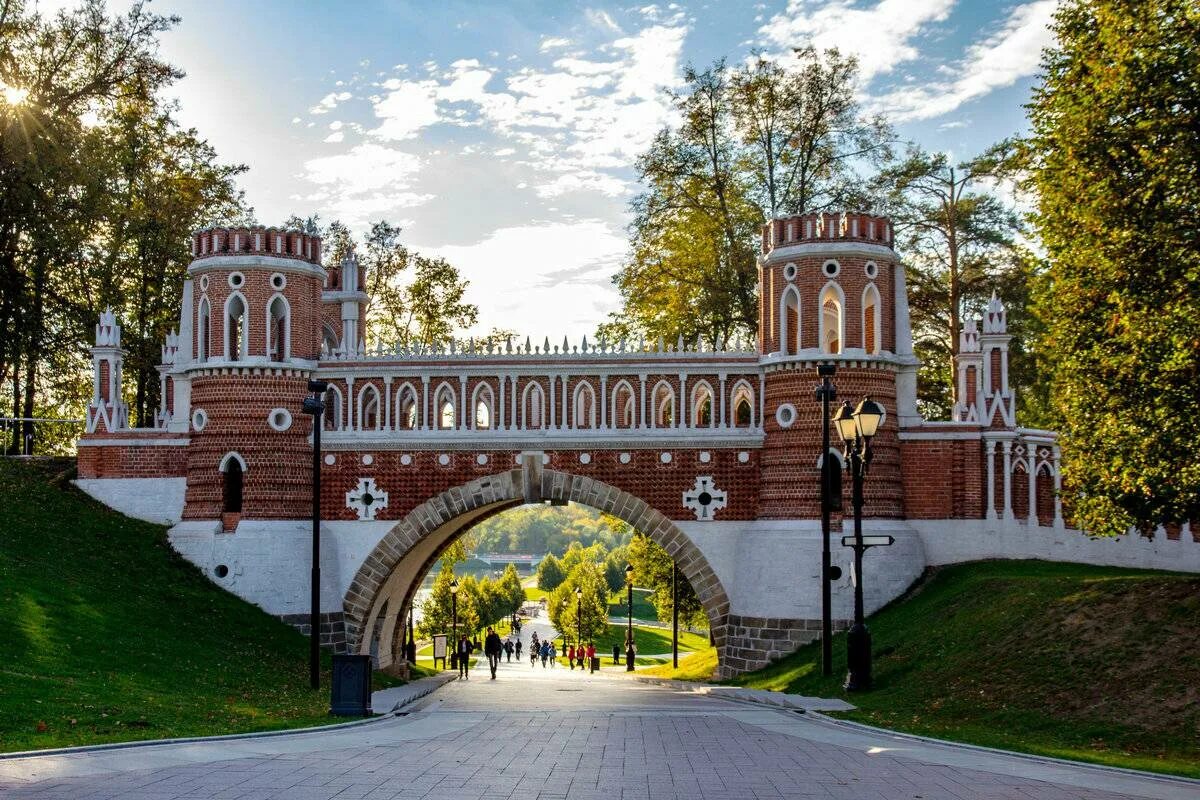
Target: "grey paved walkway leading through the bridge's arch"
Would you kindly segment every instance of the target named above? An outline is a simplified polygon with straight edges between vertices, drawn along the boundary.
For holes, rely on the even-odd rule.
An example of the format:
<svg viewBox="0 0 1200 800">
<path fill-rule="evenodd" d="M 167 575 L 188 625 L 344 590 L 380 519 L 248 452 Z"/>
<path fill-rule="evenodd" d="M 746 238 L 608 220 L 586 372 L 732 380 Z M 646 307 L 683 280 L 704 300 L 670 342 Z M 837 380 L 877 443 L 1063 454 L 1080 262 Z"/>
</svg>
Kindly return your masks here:
<svg viewBox="0 0 1200 800">
<path fill-rule="evenodd" d="M 502 663 L 335 732 L 0 760 L 0 796 L 131 800 L 1195 800 L 1200 782 L 1015 758 Z"/>
</svg>

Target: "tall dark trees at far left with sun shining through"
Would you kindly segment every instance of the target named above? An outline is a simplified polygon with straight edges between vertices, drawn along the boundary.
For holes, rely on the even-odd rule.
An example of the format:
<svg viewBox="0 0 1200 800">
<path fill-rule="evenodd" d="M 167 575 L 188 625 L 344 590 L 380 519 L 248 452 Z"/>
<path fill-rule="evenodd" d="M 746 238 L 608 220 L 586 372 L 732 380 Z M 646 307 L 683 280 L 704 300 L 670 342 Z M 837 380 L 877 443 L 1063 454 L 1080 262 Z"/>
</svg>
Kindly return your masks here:
<svg viewBox="0 0 1200 800">
<path fill-rule="evenodd" d="M 157 43 L 176 22 L 143 2 L 109 17 L 84 0 L 48 17 L 0 0 L 0 84 L 11 90 L 0 100 L 0 385 L 12 416 L 83 416 L 86 348 L 112 306 L 133 422 L 149 425 L 187 233 L 248 215 L 234 185 L 244 168 L 180 127 L 163 96 L 181 73 Z M 10 446 L 41 434 L 25 423 Z"/>
</svg>

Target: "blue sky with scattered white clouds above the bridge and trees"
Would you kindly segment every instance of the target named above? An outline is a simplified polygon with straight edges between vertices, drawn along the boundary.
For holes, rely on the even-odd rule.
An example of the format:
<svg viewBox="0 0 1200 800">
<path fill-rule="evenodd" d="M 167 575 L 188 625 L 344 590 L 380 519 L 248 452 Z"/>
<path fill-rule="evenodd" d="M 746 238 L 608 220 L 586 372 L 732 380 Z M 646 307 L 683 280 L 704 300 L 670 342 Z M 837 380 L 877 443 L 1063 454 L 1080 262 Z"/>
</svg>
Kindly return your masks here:
<svg viewBox="0 0 1200 800">
<path fill-rule="evenodd" d="M 43 0 L 42 10 L 70 5 Z M 118 8 L 124 2 L 113 7 Z M 260 222 L 388 218 L 472 282 L 479 331 L 590 333 L 618 305 L 632 162 L 683 67 L 812 41 L 955 157 L 1022 131 L 1055 0 L 155 0 L 181 118 L 246 163 Z"/>
</svg>

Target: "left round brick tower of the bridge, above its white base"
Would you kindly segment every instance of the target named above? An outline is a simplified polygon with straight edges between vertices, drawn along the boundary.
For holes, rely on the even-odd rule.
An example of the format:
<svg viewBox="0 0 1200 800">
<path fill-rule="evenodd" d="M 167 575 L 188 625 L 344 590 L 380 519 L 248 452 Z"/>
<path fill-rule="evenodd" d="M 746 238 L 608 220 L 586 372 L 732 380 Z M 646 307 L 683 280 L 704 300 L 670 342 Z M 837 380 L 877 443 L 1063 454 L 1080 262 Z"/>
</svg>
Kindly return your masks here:
<svg viewBox="0 0 1200 800">
<path fill-rule="evenodd" d="M 192 236 L 191 284 L 175 354 L 187 384 L 185 518 L 296 516 L 308 507 L 311 423 L 296 409 L 320 351 L 320 239 L 299 230 L 218 228 Z M 182 368 L 182 363 L 187 367 Z"/>
</svg>

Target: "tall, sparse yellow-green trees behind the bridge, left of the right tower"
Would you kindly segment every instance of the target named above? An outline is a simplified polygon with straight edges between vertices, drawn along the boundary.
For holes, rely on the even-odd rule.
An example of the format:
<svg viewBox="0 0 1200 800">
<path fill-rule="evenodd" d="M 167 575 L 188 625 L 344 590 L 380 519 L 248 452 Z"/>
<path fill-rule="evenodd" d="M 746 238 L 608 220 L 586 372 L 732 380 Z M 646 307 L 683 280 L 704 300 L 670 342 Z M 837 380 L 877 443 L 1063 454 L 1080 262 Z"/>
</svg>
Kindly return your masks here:
<svg viewBox="0 0 1200 800">
<path fill-rule="evenodd" d="M 890 131 L 860 114 L 857 62 L 798 50 L 731 70 L 688 68 L 680 122 L 637 161 L 630 254 L 614 282 L 610 341 L 648 336 L 721 345 L 757 331 L 757 252 L 773 215 L 859 205 L 858 167 L 889 152 Z"/>
</svg>

